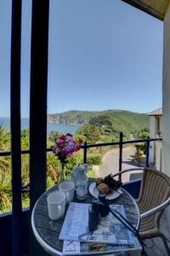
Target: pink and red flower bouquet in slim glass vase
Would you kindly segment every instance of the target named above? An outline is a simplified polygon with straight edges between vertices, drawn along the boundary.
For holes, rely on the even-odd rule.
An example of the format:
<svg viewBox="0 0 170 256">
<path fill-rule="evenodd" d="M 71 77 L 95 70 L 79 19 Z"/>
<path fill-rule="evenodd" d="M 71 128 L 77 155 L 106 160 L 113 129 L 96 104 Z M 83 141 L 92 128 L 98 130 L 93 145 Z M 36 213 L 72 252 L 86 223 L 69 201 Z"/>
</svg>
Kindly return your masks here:
<svg viewBox="0 0 170 256">
<path fill-rule="evenodd" d="M 61 163 L 60 183 L 65 180 L 65 163 L 68 157 L 82 148 L 82 139 L 76 142 L 71 133 L 61 135 L 54 143 L 53 153 Z"/>
</svg>

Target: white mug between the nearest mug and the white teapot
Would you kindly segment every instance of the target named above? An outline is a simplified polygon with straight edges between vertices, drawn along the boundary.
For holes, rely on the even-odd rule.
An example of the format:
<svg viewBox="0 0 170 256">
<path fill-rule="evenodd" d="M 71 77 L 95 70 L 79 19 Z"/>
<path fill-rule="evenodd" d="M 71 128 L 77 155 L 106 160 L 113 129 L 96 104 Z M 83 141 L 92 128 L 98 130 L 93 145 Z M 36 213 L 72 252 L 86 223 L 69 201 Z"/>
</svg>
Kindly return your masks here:
<svg viewBox="0 0 170 256">
<path fill-rule="evenodd" d="M 59 184 L 59 191 L 65 193 L 66 202 L 73 201 L 75 184 L 71 181 L 65 181 Z"/>
</svg>

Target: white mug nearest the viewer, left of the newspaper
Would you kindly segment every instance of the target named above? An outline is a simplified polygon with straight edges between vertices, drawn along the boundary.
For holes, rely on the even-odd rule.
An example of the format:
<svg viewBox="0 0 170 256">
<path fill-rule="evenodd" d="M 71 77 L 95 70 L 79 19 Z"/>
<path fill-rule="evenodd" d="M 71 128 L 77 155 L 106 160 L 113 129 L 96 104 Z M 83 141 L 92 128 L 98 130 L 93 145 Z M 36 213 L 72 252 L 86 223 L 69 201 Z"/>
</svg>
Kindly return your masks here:
<svg viewBox="0 0 170 256">
<path fill-rule="evenodd" d="M 48 195 L 48 216 L 56 220 L 65 214 L 65 193 L 55 191 Z"/>
</svg>

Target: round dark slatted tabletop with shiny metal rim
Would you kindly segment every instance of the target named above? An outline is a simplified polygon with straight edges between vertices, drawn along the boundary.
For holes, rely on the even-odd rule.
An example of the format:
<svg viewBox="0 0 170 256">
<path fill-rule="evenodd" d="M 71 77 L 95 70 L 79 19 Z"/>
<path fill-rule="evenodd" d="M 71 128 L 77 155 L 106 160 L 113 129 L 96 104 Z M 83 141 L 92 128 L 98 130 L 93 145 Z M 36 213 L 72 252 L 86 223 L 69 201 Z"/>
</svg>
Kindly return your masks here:
<svg viewBox="0 0 170 256">
<path fill-rule="evenodd" d="M 91 183 L 94 183 L 94 178 L 88 178 L 88 187 Z M 37 241 L 45 251 L 51 255 L 62 255 L 63 241 L 59 240 L 59 233 L 65 217 L 59 220 L 51 220 L 48 218 L 47 196 L 55 190 L 58 190 L 58 185 L 48 189 L 38 199 L 31 214 L 31 227 Z M 110 205 L 123 205 L 127 220 L 139 230 L 139 207 L 133 197 L 129 195 L 125 189 L 122 189 L 122 192 L 123 193 L 116 199 L 110 201 Z M 94 197 L 88 192 L 86 200 L 79 201 L 75 195 L 74 201 L 90 204 L 93 198 Z M 120 255 L 120 253 L 112 253 L 112 255 Z"/>
</svg>

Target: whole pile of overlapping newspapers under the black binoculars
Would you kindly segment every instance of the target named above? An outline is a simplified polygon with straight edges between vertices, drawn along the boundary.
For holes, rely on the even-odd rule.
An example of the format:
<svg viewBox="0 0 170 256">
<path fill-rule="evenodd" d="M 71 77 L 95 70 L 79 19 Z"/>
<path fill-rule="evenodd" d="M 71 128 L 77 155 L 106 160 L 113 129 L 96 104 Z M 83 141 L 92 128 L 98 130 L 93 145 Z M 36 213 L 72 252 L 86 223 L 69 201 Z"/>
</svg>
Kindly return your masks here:
<svg viewBox="0 0 170 256">
<path fill-rule="evenodd" d="M 88 204 L 70 203 L 59 235 L 59 239 L 65 240 L 64 255 L 141 250 L 139 241 L 111 213 L 105 218 L 101 218 L 98 230 L 89 235 L 88 207 Z M 110 207 L 126 217 L 122 205 L 111 205 Z"/>
</svg>

